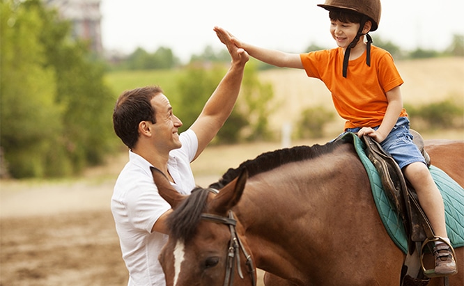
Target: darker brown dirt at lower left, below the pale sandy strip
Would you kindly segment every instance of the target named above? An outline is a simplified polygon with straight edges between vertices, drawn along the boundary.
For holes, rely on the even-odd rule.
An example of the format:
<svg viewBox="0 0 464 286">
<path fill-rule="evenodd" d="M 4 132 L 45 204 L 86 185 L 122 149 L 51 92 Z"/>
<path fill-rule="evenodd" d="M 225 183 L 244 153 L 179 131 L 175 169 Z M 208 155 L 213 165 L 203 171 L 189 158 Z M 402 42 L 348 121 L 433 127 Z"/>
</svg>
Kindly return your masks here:
<svg viewBox="0 0 464 286">
<path fill-rule="evenodd" d="M 108 211 L 1 221 L 0 285 L 127 285 Z"/>
</svg>

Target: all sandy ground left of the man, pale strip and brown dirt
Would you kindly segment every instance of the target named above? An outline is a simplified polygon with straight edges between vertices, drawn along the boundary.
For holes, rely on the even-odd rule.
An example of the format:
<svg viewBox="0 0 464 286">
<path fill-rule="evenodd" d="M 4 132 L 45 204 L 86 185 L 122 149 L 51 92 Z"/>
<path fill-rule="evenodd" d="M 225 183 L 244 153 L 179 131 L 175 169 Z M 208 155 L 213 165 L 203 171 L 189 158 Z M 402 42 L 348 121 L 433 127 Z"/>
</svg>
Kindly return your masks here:
<svg viewBox="0 0 464 286">
<path fill-rule="evenodd" d="M 109 209 L 112 180 L 8 185 L 1 183 L 1 286 L 127 285 Z"/>
</svg>

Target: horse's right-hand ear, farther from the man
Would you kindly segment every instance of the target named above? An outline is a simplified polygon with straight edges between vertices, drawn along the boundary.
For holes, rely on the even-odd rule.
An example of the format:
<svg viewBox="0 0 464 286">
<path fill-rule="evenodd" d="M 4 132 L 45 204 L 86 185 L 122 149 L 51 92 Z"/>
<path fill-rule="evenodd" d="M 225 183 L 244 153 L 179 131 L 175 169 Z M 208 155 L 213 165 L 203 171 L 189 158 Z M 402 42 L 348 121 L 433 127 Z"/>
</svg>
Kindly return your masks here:
<svg viewBox="0 0 464 286">
<path fill-rule="evenodd" d="M 216 214 L 227 214 L 229 209 L 237 205 L 242 198 L 247 178 L 248 170 L 244 168 L 238 177 L 219 191 L 219 194 L 211 201 L 208 210 Z"/>
</svg>

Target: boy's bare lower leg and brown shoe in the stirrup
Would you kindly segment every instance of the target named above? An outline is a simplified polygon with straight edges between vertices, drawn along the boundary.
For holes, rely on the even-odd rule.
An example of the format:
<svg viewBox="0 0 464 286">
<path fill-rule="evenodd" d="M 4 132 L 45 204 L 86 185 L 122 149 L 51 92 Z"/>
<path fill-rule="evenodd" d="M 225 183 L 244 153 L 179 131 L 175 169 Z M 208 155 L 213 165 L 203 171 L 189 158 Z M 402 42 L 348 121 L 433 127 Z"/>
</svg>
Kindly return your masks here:
<svg viewBox="0 0 464 286">
<path fill-rule="evenodd" d="M 438 190 L 427 166 L 422 162 L 415 162 L 403 168 L 405 177 L 408 178 L 416 190 L 419 203 L 430 221 L 435 235 L 448 239 L 446 223 L 444 219 L 443 198 Z M 448 276 L 457 273 L 456 262 L 451 249 L 446 244 L 437 244 L 435 253 L 435 273 Z"/>
</svg>

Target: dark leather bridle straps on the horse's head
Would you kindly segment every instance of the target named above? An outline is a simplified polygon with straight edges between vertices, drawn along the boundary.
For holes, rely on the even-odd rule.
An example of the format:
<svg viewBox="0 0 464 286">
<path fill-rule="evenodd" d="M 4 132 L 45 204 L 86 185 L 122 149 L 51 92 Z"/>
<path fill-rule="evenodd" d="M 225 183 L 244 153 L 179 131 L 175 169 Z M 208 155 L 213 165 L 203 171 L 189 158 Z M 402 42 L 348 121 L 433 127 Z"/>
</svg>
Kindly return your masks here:
<svg viewBox="0 0 464 286">
<path fill-rule="evenodd" d="M 212 193 L 219 193 L 216 189 L 208 189 Z M 243 255 L 247 258 L 247 267 L 248 272 L 252 276 L 253 286 L 256 286 L 256 276 L 254 272 L 254 264 L 252 257 L 247 253 L 245 246 L 243 246 L 242 241 L 237 235 L 237 230 L 235 226 L 237 225 L 237 220 L 233 217 L 233 212 L 229 211 L 229 217 L 217 216 L 216 214 L 201 214 L 201 219 L 206 221 L 212 221 L 213 223 L 223 223 L 229 225 L 231 230 L 231 240 L 229 241 L 229 251 L 227 252 L 227 264 L 226 264 L 226 277 L 224 278 L 224 286 L 233 285 L 233 271 L 235 269 L 235 264 L 237 265 L 237 271 L 240 278 L 243 279 L 242 268 L 240 267 L 240 249 L 242 250 Z M 236 262 L 236 263 L 234 263 Z"/>
</svg>

